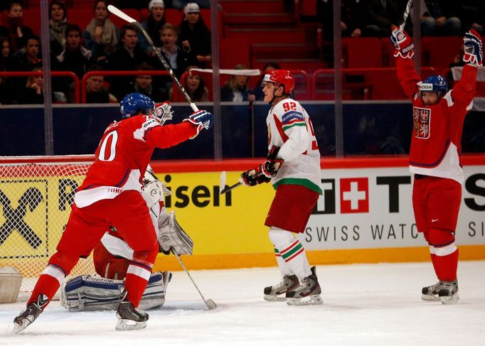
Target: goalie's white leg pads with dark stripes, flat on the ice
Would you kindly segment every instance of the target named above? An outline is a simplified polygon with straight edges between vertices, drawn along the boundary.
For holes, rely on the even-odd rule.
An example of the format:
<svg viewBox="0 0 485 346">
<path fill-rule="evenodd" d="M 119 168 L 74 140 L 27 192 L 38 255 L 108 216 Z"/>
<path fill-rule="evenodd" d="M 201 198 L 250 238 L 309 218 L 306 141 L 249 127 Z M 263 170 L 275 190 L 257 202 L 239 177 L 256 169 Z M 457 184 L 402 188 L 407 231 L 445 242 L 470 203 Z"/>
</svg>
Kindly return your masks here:
<svg viewBox="0 0 485 346">
<path fill-rule="evenodd" d="M 165 303 L 166 284 L 171 273 L 153 273 L 139 303 L 139 308 L 148 310 Z M 99 276 L 82 275 L 70 279 L 60 291 L 60 302 L 69 311 L 116 310 L 123 280 L 104 279 Z"/>
</svg>

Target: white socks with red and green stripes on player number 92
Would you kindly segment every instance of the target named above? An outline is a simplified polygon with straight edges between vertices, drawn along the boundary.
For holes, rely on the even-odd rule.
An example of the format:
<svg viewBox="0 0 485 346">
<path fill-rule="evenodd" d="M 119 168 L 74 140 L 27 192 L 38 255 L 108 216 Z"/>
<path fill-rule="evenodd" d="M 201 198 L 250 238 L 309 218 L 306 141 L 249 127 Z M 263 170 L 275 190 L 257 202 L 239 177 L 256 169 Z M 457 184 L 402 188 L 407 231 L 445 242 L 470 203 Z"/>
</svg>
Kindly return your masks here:
<svg viewBox="0 0 485 346">
<path fill-rule="evenodd" d="M 294 238 L 292 232 L 271 227 L 270 240 L 278 250 L 277 262 L 283 276 L 289 275 L 288 269 L 298 277 L 299 281 L 311 275 L 305 249 L 302 243 Z"/>
</svg>

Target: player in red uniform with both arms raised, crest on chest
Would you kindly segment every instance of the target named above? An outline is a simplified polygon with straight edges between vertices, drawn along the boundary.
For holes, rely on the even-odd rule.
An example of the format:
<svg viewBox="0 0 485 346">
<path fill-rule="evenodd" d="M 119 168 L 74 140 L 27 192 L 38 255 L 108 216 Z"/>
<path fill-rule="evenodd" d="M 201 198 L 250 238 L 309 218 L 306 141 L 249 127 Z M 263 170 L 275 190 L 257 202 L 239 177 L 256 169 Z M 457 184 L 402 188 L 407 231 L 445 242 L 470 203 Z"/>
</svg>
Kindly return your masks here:
<svg viewBox="0 0 485 346">
<path fill-rule="evenodd" d="M 474 30 L 464 36 L 462 80 L 448 91 L 447 80 L 430 76 L 424 81 L 415 71 L 412 40 L 395 29 L 398 80 L 412 101 L 414 126 L 410 148 L 410 172 L 415 174 L 412 207 L 416 226 L 430 245 L 438 282 L 422 288 L 422 299 L 458 301 L 458 249 L 454 234 L 464 180 L 460 153 L 464 118 L 471 109 L 477 67 L 482 65 L 481 38 Z"/>
</svg>

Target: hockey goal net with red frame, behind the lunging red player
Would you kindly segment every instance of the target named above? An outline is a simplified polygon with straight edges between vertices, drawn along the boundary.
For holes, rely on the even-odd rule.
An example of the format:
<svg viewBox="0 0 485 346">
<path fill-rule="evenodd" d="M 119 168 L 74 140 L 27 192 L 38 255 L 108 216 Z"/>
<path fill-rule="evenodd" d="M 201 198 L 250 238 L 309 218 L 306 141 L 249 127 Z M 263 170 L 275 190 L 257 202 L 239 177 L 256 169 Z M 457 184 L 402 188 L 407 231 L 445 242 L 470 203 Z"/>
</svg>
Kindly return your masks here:
<svg viewBox="0 0 485 346">
<path fill-rule="evenodd" d="M 75 190 L 93 161 L 94 156 L 0 157 L 0 267 L 14 266 L 22 274 L 19 300 L 30 295 L 55 253 Z M 91 255 L 70 276 L 94 273 Z"/>
</svg>

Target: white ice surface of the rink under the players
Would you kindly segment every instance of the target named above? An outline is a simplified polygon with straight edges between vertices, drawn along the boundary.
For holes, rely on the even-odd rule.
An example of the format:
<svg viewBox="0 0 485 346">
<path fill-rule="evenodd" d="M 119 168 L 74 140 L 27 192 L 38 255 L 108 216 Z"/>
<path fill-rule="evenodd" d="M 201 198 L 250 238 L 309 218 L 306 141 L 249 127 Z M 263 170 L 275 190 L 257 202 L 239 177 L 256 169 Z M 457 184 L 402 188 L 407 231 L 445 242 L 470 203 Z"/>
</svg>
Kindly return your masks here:
<svg viewBox="0 0 485 346">
<path fill-rule="evenodd" d="M 430 263 L 317 266 L 323 306 L 262 299 L 276 268 L 183 271 L 144 330 L 117 332 L 114 311 L 69 313 L 54 301 L 30 327 L 11 335 L 25 303 L 0 305 L 0 346 L 159 345 L 485 345 L 485 261 L 459 264 L 456 305 L 422 301 L 436 282 Z"/>
</svg>

